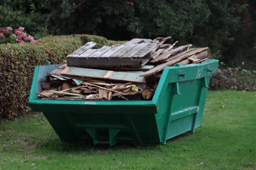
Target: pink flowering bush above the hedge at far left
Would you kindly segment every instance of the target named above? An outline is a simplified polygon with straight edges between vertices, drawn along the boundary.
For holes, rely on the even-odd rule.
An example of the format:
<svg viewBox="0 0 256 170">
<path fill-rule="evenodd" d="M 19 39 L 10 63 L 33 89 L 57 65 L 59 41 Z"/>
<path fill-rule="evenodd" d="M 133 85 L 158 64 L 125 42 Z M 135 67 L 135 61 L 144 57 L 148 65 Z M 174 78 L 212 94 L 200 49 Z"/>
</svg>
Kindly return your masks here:
<svg viewBox="0 0 256 170">
<path fill-rule="evenodd" d="M 19 27 L 15 29 L 13 33 L 12 27 L 0 28 L 0 44 L 3 43 L 20 43 L 25 44 L 26 42 L 34 42 L 34 38 L 29 35 L 27 36 L 26 32 L 23 32 L 24 28 Z"/>
</svg>

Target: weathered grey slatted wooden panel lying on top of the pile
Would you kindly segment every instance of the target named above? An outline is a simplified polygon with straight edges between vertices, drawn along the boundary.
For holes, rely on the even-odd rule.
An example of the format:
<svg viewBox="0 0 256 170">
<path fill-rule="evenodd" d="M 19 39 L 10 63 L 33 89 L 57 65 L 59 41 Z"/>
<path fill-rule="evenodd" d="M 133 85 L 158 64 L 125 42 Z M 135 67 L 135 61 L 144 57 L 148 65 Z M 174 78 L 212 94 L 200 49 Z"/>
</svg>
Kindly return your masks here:
<svg viewBox="0 0 256 170">
<path fill-rule="evenodd" d="M 145 65 L 153 57 L 154 51 L 169 38 L 171 37 L 162 40 L 136 38 L 123 45 L 104 46 L 99 49 L 92 49 L 96 45 L 95 42 L 87 42 L 67 56 L 67 65 L 83 68 L 139 68 Z"/>
</svg>

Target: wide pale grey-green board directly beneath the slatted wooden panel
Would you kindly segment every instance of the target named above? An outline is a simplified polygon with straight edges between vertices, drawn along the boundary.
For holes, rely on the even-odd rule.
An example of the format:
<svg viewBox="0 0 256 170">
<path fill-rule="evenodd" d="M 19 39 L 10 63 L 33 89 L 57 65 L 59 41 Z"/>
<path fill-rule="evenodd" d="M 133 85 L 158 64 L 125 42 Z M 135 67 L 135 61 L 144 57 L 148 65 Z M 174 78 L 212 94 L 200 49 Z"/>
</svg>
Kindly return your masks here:
<svg viewBox="0 0 256 170">
<path fill-rule="evenodd" d="M 91 68 L 77 68 L 77 67 L 66 67 L 61 74 L 67 76 L 76 76 L 76 77 L 90 77 L 98 79 L 112 79 L 119 81 L 128 81 L 128 82 L 145 82 L 143 77 L 140 77 L 140 74 L 135 73 L 125 73 L 125 72 L 111 72 L 107 77 L 108 70 L 97 70 Z"/>
</svg>

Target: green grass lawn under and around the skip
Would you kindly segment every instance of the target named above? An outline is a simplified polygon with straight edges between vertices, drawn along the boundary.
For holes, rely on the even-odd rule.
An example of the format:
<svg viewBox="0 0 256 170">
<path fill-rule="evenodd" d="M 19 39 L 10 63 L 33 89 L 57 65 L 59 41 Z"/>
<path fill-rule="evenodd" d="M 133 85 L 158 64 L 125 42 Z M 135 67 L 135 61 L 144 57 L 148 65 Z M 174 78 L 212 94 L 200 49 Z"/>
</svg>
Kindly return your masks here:
<svg viewBox="0 0 256 170">
<path fill-rule="evenodd" d="M 256 92 L 209 91 L 202 126 L 166 145 L 61 143 L 36 115 L 1 122 L 0 169 L 255 170 L 255 133 Z"/>
</svg>

